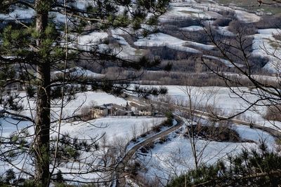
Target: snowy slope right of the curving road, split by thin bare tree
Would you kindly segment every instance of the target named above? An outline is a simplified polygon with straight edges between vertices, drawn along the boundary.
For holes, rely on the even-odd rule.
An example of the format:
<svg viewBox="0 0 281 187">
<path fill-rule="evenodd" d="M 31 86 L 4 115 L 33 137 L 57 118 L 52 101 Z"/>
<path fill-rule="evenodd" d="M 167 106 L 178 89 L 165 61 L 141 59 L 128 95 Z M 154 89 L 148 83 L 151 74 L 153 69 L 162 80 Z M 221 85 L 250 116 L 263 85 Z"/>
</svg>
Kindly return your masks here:
<svg viewBox="0 0 281 187">
<path fill-rule="evenodd" d="M 255 147 L 254 144 L 249 143 L 197 141 L 198 151 L 202 151 L 204 146 L 206 148 L 200 163 L 206 164 L 212 164 L 218 159 L 225 158 L 228 154 L 238 153 L 242 148 Z M 150 179 L 154 179 L 156 176 L 163 183 L 195 167 L 190 141 L 184 137 L 176 137 L 164 144 L 157 144 L 151 150 L 151 155 L 148 154 L 144 157 L 143 162 L 147 165 L 146 168 L 148 169 L 145 172 L 145 176 L 150 177 Z"/>
</svg>

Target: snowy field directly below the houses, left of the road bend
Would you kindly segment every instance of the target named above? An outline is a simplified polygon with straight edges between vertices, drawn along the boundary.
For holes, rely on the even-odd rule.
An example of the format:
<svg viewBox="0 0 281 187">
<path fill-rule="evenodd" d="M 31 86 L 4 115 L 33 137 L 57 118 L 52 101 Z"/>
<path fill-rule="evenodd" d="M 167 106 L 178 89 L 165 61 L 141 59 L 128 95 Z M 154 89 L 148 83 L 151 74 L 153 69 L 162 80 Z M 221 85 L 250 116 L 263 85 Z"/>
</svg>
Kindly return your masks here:
<svg viewBox="0 0 281 187">
<path fill-rule="evenodd" d="M 133 139 L 133 133 L 139 136 L 144 128 L 145 130 L 150 130 L 165 119 L 141 116 L 115 116 L 98 118 L 87 122 L 64 123 L 61 130 L 81 139 L 101 137 L 105 134 L 107 144 L 112 144 L 116 139 L 123 139 L 123 141 L 128 142 Z"/>
</svg>

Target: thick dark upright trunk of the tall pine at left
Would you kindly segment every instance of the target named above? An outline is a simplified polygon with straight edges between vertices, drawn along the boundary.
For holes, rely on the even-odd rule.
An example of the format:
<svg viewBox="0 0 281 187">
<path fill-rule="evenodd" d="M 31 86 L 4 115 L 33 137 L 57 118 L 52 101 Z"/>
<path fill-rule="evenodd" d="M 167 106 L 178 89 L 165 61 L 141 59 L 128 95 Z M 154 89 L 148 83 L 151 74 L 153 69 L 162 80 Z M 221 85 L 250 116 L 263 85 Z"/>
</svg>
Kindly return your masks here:
<svg viewBox="0 0 281 187">
<path fill-rule="evenodd" d="M 35 2 L 37 11 L 36 29 L 40 34 L 39 39 L 37 39 L 38 49 L 42 47 L 43 33 L 48 25 L 48 10 L 42 8 L 43 4 L 48 4 L 48 1 L 37 0 Z M 48 186 L 50 176 L 50 64 L 48 60 L 43 58 L 37 64 L 37 83 L 34 181 L 36 186 Z"/>
</svg>

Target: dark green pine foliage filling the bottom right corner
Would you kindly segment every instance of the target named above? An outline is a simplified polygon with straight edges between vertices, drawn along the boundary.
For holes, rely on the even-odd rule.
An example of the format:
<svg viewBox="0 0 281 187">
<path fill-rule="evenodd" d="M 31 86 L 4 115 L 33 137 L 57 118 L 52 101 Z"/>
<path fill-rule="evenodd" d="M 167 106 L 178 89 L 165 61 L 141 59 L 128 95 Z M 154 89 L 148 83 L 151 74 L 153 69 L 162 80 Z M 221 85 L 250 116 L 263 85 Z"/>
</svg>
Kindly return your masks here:
<svg viewBox="0 0 281 187">
<path fill-rule="evenodd" d="M 280 186 L 281 156 L 268 151 L 261 142 L 259 150 L 244 149 L 214 165 L 200 165 L 173 179 L 167 187 L 179 186 Z"/>
</svg>

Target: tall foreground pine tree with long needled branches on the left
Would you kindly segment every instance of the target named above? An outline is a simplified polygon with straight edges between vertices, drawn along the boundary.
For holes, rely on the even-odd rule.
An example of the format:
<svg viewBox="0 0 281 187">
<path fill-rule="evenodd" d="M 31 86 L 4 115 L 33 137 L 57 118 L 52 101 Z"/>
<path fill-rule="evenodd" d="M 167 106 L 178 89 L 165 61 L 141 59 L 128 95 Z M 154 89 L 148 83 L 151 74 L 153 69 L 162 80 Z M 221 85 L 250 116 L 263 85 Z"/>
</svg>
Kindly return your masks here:
<svg viewBox="0 0 281 187">
<path fill-rule="evenodd" d="M 168 3 L 168 0 L 0 1 L 0 12 L 4 15 L 9 15 L 18 8 L 34 13 L 34 16 L 27 19 L 19 17 L 11 20 L 7 16 L 1 20 L 0 102 L 1 114 L 30 120 L 34 124 L 35 134 L 32 142 L 23 141 L 24 136 L 19 135 L 18 139 L 10 142 L 11 144 L 1 144 L 5 148 L 11 148 L 5 149 L 1 157 L 12 164 L 12 158 L 23 152 L 28 153 L 34 160 L 36 185 L 48 186 L 52 174 L 50 165 L 54 164 L 53 167 L 56 167 L 54 160 L 58 159 L 58 147 L 53 148 L 50 144 L 51 125 L 60 125 L 63 120 L 60 112 L 58 119 L 54 120 L 51 117 L 54 99 L 60 100 L 55 105 L 61 107 L 62 111 L 65 103 L 69 102 L 74 94 L 86 90 L 103 90 L 112 95 L 122 95 L 124 91 L 138 92 L 144 96 L 165 93 L 164 88 L 144 89 L 130 86 L 134 78 L 141 76 L 143 69 L 159 67 L 159 60 L 149 60 L 146 57 L 138 61 L 124 60 L 111 48 L 105 47 L 105 41 L 95 39 L 96 43 L 79 46 L 76 40 L 85 32 L 116 28 L 145 36 L 150 29 L 145 29 L 142 25 L 155 27 L 157 18 L 164 13 Z M 65 22 L 60 22 L 61 17 Z M 111 64 L 119 67 L 120 71 L 126 69 L 132 73 L 105 78 L 77 74 L 74 67 L 82 60 L 88 67 L 94 64 L 106 67 Z M 164 69 L 169 69 L 169 66 Z M 53 76 L 52 71 L 60 71 L 60 74 Z M 27 99 L 35 100 L 35 116 L 25 116 L 20 112 L 22 96 L 10 91 L 15 85 L 25 90 Z M 13 149 L 19 146 L 20 141 L 23 141 L 21 151 Z M 50 150 L 55 150 L 55 153 Z"/>
</svg>

